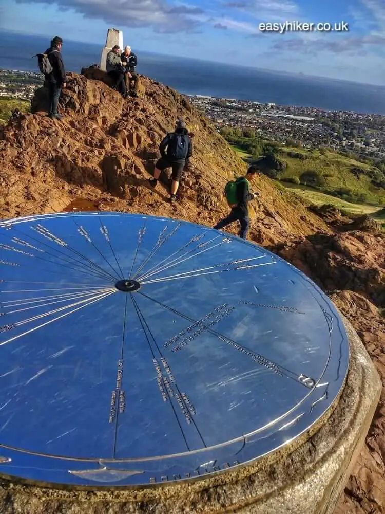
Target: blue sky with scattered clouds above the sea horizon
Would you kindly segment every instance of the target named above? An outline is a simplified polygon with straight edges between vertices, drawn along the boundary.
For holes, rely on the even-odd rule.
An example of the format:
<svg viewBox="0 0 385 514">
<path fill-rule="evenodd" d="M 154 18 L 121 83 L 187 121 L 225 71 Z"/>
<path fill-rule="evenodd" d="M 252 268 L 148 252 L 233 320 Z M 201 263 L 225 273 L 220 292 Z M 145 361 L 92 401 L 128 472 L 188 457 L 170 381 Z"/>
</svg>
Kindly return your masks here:
<svg viewBox="0 0 385 514">
<path fill-rule="evenodd" d="M 286 21 L 349 30 L 259 28 Z M 109 27 L 134 52 L 222 62 L 229 73 L 245 65 L 385 85 L 385 0 L 0 0 L 6 30 L 103 47 Z"/>
</svg>

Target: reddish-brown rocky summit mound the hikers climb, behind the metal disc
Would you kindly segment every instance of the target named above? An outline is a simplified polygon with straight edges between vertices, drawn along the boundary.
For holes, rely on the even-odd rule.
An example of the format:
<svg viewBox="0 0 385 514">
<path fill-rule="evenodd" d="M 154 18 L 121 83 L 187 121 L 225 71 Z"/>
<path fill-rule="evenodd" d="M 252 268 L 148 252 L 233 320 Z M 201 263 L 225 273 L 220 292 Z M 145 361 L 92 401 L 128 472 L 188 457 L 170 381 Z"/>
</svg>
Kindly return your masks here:
<svg viewBox="0 0 385 514">
<path fill-rule="evenodd" d="M 94 201 L 100 210 L 165 214 L 207 225 L 222 217 L 223 187 L 245 172 L 245 163 L 185 97 L 150 79 L 144 78 L 143 86 L 141 98 L 124 100 L 101 81 L 71 75 L 60 121 L 46 116 L 46 90 L 38 90 L 35 114 L 13 120 L 0 136 L 0 217 L 60 211 L 75 198 Z M 165 187 L 155 191 L 147 178 L 160 156 L 159 143 L 178 117 L 194 134 L 195 155 L 174 208 L 165 201 L 169 176 L 161 176 Z M 261 199 L 252 215 L 259 219 L 254 233 L 259 242 L 328 230 L 266 177 L 258 188 Z"/>
</svg>

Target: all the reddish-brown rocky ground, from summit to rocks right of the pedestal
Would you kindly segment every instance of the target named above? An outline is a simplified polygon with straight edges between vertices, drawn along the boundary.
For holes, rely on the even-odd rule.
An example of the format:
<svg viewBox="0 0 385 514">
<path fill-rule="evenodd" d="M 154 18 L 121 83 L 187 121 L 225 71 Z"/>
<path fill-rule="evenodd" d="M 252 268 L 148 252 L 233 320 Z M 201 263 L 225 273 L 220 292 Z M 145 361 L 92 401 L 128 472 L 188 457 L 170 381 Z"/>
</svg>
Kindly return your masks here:
<svg viewBox="0 0 385 514">
<path fill-rule="evenodd" d="M 99 80 L 70 74 L 60 101 L 63 120 L 46 114 L 37 90 L 32 113 L 0 128 L 0 218 L 83 208 L 141 212 L 207 226 L 228 208 L 222 192 L 246 164 L 188 100 L 149 78 L 140 98 L 123 99 Z M 147 182 L 158 146 L 177 118 L 194 134 L 194 156 L 180 198 L 170 205 L 170 177 Z M 385 237 L 368 219 L 315 209 L 259 175 L 251 204 L 251 239 L 315 280 L 347 316 L 385 384 Z M 236 227 L 229 230 L 236 232 Z M 385 395 L 338 514 L 385 512 Z M 0 496 L 7 494 L 0 483 Z M 9 510 L 11 512 L 11 510 Z"/>
</svg>

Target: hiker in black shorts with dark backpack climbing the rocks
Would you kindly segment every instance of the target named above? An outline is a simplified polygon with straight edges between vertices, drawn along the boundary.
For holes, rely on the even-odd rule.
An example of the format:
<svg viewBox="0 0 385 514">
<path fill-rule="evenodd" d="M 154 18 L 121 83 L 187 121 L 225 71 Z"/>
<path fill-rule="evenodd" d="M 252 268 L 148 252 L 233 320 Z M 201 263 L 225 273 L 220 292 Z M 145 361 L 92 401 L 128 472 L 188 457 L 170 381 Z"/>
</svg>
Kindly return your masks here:
<svg viewBox="0 0 385 514">
<path fill-rule="evenodd" d="M 159 150 L 161 158 L 155 164 L 153 178 L 149 179 L 149 183 L 152 187 L 156 187 L 161 172 L 171 167 L 170 202 L 174 203 L 177 199 L 177 191 L 183 169 L 188 168 L 189 159 L 192 156 L 192 142 L 188 135 L 186 123 L 183 120 L 177 121 L 175 132 L 170 132 L 166 135 L 159 145 Z"/>
</svg>

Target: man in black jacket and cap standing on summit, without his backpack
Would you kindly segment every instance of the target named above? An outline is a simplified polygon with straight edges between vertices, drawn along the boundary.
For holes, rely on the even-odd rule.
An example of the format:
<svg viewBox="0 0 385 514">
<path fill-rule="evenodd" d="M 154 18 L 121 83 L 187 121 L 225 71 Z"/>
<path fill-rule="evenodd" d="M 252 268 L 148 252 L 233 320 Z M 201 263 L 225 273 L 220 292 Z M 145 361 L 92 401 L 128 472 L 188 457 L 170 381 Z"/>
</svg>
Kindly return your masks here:
<svg viewBox="0 0 385 514">
<path fill-rule="evenodd" d="M 64 69 L 62 54 L 60 53 L 62 45 L 62 38 L 55 36 L 51 41 L 50 48 L 45 51 L 48 56 L 48 61 L 53 68 L 51 73 L 46 75 L 46 85 L 48 86 L 49 92 L 48 116 L 58 120 L 61 120 L 63 116 L 57 113 L 57 104 L 59 103 L 62 87 L 66 87 L 66 70 Z"/>
</svg>

